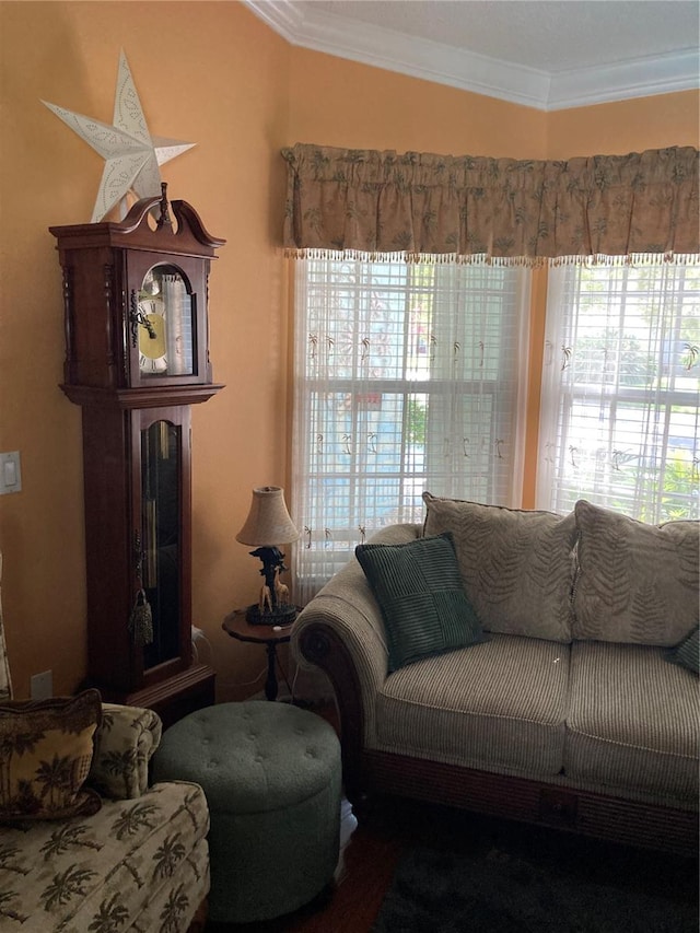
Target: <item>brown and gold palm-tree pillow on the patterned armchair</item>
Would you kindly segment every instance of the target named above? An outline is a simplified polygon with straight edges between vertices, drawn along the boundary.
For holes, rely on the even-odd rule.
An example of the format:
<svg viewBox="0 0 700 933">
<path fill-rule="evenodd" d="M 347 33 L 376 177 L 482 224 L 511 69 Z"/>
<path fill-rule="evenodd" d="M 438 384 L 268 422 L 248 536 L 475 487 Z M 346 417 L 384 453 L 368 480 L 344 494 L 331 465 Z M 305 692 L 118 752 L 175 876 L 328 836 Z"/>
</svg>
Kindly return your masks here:
<svg viewBox="0 0 700 933">
<path fill-rule="evenodd" d="M 100 809 L 100 795 L 83 783 L 101 716 L 97 690 L 0 705 L 0 820 L 65 819 Z"/>
</svg>

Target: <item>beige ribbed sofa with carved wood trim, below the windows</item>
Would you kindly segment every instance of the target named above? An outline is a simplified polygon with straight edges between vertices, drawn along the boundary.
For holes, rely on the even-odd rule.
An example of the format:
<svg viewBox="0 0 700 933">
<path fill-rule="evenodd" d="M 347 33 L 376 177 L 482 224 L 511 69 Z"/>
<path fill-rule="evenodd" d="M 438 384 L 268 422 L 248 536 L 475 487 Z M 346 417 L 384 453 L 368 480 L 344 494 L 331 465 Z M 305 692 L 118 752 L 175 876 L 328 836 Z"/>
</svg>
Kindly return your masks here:
<svg viewBox="0 0 700 933">
<path fill-rule="evenodd" d="M 697 851 L 699 523 L 424 499 L 424 525 L 375 535 L 368 575 L 351 559 L 292 632 L 335 688 L 350 798 Z M 459 592 L 425 557 L 445 540 Z"/>
</svg>

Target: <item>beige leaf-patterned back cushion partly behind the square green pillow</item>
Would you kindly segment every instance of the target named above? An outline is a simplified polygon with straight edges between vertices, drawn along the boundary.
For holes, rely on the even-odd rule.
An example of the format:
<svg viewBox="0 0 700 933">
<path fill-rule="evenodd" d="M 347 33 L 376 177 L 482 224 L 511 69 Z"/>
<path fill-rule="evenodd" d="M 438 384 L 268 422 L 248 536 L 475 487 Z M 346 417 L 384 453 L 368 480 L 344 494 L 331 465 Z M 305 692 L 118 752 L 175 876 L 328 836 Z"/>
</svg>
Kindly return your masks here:
<svg viewBox="0 0 700 933">
<path fill-rule="evenodd" d="M 452 532 L 467 598 L 487 631 L 571 640 L 573 513 L 423 493 L 424 534 Z"/>
</svg>

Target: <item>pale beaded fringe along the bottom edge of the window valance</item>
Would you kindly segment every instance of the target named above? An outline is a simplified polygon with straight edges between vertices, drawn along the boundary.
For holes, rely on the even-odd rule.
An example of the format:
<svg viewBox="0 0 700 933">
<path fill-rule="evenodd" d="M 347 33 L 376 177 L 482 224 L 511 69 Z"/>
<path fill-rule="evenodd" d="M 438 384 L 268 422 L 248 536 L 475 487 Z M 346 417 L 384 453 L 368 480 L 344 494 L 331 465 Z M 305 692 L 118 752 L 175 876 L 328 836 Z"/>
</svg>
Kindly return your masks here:
<svg viewBox="0 0 700 933">
<path fill-rule="evenodd" d="M 557 266 L 664 266 L 664 265 L 700 265 L 700 254 L 686 253 L 630 253 L 626 256 L 489 256 L 486 253 L 462 255 L 457 253 L 374 253 L 362 249 L 319 249 L 291 248 L 284 249 L 288 259 L 323 259 L 328 261 L 361 261 L 361 263 L 405 263 L 423 264 L 429 266 L 504 266 L 527 267 L 541 269 Z"/>
</svg>

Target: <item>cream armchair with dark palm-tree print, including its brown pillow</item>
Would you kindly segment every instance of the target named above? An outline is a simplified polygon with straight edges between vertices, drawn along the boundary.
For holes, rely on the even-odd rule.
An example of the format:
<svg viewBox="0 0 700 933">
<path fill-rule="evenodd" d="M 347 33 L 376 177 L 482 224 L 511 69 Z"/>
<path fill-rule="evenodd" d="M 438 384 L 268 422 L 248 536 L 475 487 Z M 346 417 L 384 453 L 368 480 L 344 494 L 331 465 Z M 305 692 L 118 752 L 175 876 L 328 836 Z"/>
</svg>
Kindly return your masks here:
<svg viewBox="0 0 700 933">
<path fill-rule="evenodd" d="M 209 810 L 198 784 L 149 785 L 159 716 L 96 691 L 10 697 L 0 608 L 0 930 L 200 929 Z"/>
</svg>

